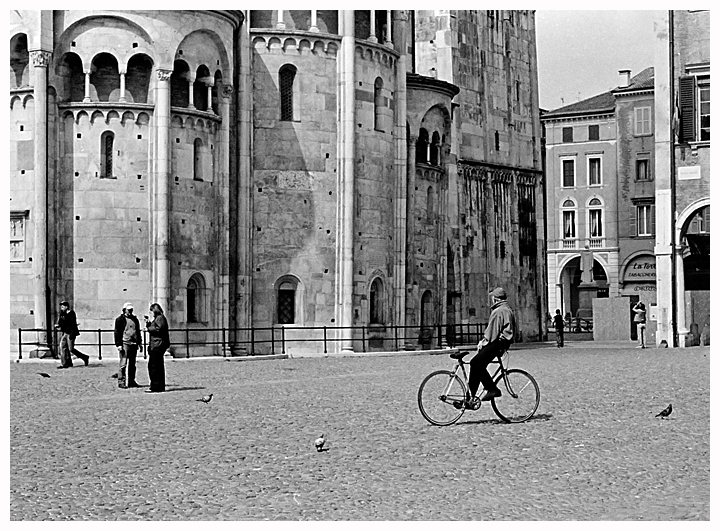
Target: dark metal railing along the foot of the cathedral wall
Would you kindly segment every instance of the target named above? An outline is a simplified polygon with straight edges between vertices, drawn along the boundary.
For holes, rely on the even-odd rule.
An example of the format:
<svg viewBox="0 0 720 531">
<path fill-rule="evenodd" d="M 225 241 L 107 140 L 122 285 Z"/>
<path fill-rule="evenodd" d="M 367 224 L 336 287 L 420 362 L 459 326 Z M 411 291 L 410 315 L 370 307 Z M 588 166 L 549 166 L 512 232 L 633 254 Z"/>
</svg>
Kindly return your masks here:
<svg viewBox="0 0 720 531">
<path fill-rule="evenodd" d="M 485 323 L 441 324 L 428 327 L 370 325 L 370 326 L 269 326 L 252 328 L 172 328 L 170 348 L 174 357 L 192 357 L 191 349 L 211 356 L 228 356 L 237 351 L 247 355 L 286 354 L 290 347 L 322 349 L 323 354 L 340 350 L 351 342 L 361 352 L 427 350 L 434 347 L 476 344 L 485 332 Z M 18 328 L 18 359 L 23 357 L 23 348 L 28 346 L 49 347 L 53 357 L 60 345 L 61 332 L 52 331 L 49 345 L 39 344 L 37 337 L 45 329 Z M 34 335 L 34 340 L 23 341 L 23 335 Z M 140 351 L 147 357 L 147 331 L 143 330 L 143 347 Z M 88 349 L 97 349 L 97 358 L 102 360 L 103 347 L 115 347 L 113 329 L 80 330 L 75 347 L 84 354 Z M 85 349 L 85 350 L 83 350 Z"/>
</svg>

